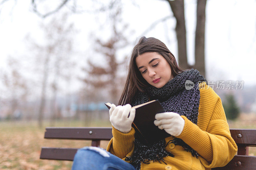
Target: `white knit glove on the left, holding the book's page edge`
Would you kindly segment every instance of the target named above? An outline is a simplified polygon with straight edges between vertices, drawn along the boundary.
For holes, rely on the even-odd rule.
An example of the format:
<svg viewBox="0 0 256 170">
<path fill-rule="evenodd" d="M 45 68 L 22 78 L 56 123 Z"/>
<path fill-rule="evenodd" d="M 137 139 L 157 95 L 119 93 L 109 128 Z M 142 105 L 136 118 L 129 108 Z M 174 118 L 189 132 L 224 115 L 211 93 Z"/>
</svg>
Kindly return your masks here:
<svg viewBox="0 0 256 170">
<path fill-rule="evenodd" d="M 135 109 L 131 109 L 130 104 L 124 106 L 111 105 L 109 109 L 109 120 L 111 124 L 123 133 L 128 133 L 132 129 L 132 122 L 135 117 Z M 130 116 L 128 117 L 130 113 Z"/>
</svg>

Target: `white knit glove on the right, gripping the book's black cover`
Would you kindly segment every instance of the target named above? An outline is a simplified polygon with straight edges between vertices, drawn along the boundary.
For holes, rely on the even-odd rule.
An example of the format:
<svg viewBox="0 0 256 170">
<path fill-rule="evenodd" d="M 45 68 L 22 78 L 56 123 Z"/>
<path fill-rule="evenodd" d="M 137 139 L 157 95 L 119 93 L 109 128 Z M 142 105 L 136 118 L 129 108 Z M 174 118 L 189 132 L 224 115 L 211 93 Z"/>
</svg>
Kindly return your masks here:
<svg viewBox="0 0 256 170">
<path fill-rule="evenodd" d="M 158 113 L 155 118 L 154 124 L 172 136 L 179 136 L 184 129 L 185 121 L 178 113 Z"/>
</svg>

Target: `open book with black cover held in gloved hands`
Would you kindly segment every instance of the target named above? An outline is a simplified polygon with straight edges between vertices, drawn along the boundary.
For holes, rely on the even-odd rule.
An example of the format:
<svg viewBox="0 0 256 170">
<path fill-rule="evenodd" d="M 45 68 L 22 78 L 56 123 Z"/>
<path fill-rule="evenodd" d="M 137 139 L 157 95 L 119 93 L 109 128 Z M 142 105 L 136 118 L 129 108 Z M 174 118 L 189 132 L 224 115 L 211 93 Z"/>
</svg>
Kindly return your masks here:
<svg viewBox="0 0 256 170">
<path fill-rule="evenodd" d="M 105 103 L 105 105 L 110 109 L 110 103 Z M 141 140 L 146 143 L 152 143 L 171 136 L 164 129 L 161 130 L 154 124 L 155 115 L 165 112 L 158 100 L 152 100 L 132 108 L 136 110 L 132 127 L 137 132 L 137 137 L 140 137 Z"/>
</svg>

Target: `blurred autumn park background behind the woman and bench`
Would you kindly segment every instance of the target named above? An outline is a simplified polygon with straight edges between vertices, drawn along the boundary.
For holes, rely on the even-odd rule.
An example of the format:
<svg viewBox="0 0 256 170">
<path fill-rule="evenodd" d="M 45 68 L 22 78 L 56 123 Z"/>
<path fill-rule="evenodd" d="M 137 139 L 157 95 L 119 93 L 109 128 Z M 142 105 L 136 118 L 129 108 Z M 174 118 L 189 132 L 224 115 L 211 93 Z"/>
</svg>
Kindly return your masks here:
<svg viewBox="0 0 256 170">
<path fill-rule="evenodd" d="M 111 127 L 104 103 L 118 103 L 142 35 L 205 76 L 230 128 L 255 129 L 255 9 L 255 0 L 0 0 L 0 169 L 70 169 L 40 160 L 40 148 L 90 141 L 45 140 L 45 127 Z"/>
</svg>

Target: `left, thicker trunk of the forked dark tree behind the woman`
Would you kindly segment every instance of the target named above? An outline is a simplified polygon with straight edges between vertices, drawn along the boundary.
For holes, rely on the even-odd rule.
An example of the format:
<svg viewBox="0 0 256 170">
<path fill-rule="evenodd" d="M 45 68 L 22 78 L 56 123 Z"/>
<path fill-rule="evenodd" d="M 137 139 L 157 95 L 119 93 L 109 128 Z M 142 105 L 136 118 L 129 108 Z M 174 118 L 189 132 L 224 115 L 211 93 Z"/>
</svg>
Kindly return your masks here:
<svg viewBox="0 0 256 170">
<path fill-rule="evenodd" d="M 176 35 L 178 41 L 178 57 L 179 57 L 179 66 L 182 69 L 188 69 L 188 60 L 187 60 L 187 44 L 186 44 L 186 27 L 185 27 L 185 16 L 184 16 L 184 1 L 175 0 L 169 1 L 174 17 L 176 18 Z"/>
</svg>

